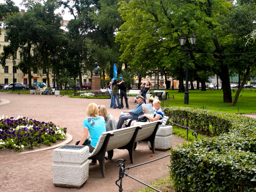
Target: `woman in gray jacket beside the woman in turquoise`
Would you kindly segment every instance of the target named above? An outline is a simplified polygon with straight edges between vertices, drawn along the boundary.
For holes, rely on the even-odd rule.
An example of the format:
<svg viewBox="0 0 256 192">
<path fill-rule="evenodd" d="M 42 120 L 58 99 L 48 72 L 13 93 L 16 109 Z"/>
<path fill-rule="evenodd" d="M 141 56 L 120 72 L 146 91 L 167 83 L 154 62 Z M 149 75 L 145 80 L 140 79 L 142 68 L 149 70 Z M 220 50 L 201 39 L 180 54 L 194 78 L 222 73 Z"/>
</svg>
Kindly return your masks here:
<svg viewBox="0 0 256 192">
<path fill-rule="evenodd" d="M 107 108 L 105 105 L 99 105 L 99 116 L 103 116 L 106 121 L 106 131 L 114 131 L 116 130 L 116 120 L 112 115 L 110 115 L 107 111 Z M 114 150 L 108 151 L 108 156 L 105 157 L 105 159 L 112 159 L 114 154 Z"/>
</svg>

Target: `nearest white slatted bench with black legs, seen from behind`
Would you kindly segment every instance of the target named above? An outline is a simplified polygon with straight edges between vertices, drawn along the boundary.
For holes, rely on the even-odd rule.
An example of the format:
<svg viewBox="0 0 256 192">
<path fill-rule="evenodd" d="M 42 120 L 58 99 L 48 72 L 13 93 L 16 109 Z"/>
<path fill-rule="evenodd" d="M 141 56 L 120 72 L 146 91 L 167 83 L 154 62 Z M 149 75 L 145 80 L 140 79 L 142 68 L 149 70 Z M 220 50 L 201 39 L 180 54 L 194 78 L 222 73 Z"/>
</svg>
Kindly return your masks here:
<svg viewBox="0 0 256 192">
<path fill-rule="evenodd" d="M 149 141 L 152 146 L 152 152 L 155 152 L 156 132 L 163 120 L 148 122 L 140 126 L 132 126 L 114 131 L 103 132 L 92 153 L 89 153 L 88 159 L 97 159 L 100 164 L 102 177 L 105 177 L 105 153 L 106 151 L 118 149 L 127 149 L 131 163 L 133 164 L 133 150 L 135 142 L 143 140 Z"/>
</svg>

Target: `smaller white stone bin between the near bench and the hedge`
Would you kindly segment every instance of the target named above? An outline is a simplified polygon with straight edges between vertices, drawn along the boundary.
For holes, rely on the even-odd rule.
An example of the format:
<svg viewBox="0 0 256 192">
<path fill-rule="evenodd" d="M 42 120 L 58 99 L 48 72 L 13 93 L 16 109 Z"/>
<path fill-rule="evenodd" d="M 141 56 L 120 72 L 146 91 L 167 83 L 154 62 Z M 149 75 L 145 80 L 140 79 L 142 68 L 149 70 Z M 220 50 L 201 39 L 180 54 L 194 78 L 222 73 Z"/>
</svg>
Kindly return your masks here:
<svg viewBox="0 0 256 192">
<path fill-rule="evenodd" d="M 150 142 L 148 142 L 148 148 L 151 149 Z M 172 148 L 172 126 L 160 125 L 155 138 L 155 150 L 166 151 Z"/>
</svg>

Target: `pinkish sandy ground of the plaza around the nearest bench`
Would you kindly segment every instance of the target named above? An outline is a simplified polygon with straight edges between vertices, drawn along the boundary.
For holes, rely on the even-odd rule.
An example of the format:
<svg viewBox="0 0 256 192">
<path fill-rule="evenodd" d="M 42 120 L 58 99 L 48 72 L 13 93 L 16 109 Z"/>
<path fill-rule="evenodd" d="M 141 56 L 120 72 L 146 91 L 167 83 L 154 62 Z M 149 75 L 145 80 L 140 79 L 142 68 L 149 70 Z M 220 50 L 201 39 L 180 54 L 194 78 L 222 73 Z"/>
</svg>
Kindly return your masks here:
<svg viewBox="0 0 256 192">
<path fill-rule="evenodd" d="M 89 103 L 95 102 L 97 105 L 105 105 L 108 113 L 118 120 L 121 111 L 124 109 L 109 108 L 109 99 L 80 99 L 68 98 L 68 96 L 56 97 L 55 95 L 30 95 L 30 94 L 10 94 L 0 93 L 0 98 L 10 100 L 10 103 L 0 105 L 0 115 L 17 117 L 19 115 L 36 119 L 38 121 L 51 121 L 60 127 L 67 127 L 67 132 L 73 136 L 71 144 L 80 140 L 83 134 L 83 120 L 86 117 L 86 108 Z M 136 104 L 133 97 L 128 97 L 129 107 L 135 108 Z M 184 140 L 173 135 L 172 146 L 183 143 Z M 1 150 L 1 149 L 0 149 Z M 1 179 L 0 191 L 118 191 L 115 181 L 118 179 L 119 169 L 115 162 L 122 158 L 126 160 L 125 165 L 131 166 L 127 150 L 115 149 L 112 160 L 105 162 L 106 178 L 101 177 L 99 164 L 89 167 L 89 179 L 79 189 L 58 188 L 52 183 L 52 151 L 45 150 L 29 154 L 18 154 L 13 150 L 4 155 L 0 153 Z M 8 151 L 7 150 L 7 151 Z M 148 143 L 138 143 L 134 152 L 135 164 L 140 164 L 152 159 L 169 154 L 169 150 L 162 152 L 152 151 L 148 148 Z M 153 155 L 153 157 L 150 157 Z M 170 158 L 165 157 L 150 164 L 142 165 L 127 173 L 148 184 L 163 179 L 168 175 L 167 165 L 170 164 Z M 139 182 L 124 177 L 124 191 L 137 191 L 139 188 L 145 188 Z"/>
</svg>

